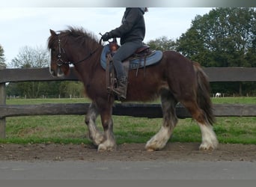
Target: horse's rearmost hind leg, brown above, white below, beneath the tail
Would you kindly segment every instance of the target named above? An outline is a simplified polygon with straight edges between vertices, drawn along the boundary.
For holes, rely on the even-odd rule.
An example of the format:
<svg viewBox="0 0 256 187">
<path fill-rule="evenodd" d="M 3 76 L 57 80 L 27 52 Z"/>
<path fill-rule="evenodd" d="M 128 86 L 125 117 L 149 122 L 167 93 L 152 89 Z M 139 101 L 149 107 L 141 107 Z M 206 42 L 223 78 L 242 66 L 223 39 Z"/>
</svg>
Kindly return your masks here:
<svg viewBox="0 0 256 187">
<path fill-rule="evenodd" d="M 218 140 L 213 131 L 213 126 L 207 120 L 204 111 L 198 107 L 197 102 L 183 102 L 183 105 L 189 110 L 192 117 L 197 121 L 201 129 L 202 142 L 199 147 L 200 150 L 214 150 L 218 147 Z"/>
</svg>

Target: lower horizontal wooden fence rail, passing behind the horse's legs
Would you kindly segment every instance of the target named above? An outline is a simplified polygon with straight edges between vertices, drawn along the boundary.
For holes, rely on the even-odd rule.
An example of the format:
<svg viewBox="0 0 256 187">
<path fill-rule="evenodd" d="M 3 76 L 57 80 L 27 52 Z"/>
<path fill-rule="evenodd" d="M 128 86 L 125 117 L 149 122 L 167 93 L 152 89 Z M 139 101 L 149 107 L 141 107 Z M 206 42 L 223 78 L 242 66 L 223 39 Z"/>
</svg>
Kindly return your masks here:
<svg viewBox="0 0 256 187">
<path fill-rule="evenodd" d="M 37 105 L 0 105 L 0 118 L 29 116 L 29 115 L 61 115 L 78 114 L 84 115 L 88 111 L 90 103 L 74 104 L 37 104 Z M 177 117 L 191 117 L 189 111 L 182 105 L 176 107 Z M 115 104 L 113 114 L 118 116 L 132 117 L 162 117 L 160 104 Z M 213 114 L 216 117 L 252 117 L 256 116 L 256 105 L 213 105 Z"/>
</svg>

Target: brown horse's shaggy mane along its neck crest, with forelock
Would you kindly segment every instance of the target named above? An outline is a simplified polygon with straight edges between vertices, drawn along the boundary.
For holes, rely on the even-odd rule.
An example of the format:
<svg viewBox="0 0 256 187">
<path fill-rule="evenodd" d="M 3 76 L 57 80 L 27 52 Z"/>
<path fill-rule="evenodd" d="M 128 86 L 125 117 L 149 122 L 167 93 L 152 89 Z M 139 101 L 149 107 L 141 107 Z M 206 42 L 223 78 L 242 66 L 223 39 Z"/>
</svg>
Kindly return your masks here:
<svg viewBox="0 0 256 187">
<path fill-rule="evenodd" d="M 88 43 L 88 45 L 95 45 L 96 43 L 98 44 L 99 39 L 95 34 L 89 31 L 85 31 L 84 28 L 75 28 L 72 26 L 68 26 L 67 30 L 63 31 L 58 31 L 58 34 L 60 37 L 65 37 L 65 36 L 70 36 L 74 37 L 75 40 L 77 40 L 80 45 L 84 45 L 85 43 Z M 51 48 L 53 43 L 56 41 L 55 37 L 50 36 L 48 39 L 48 49 Z"/>
</svg>

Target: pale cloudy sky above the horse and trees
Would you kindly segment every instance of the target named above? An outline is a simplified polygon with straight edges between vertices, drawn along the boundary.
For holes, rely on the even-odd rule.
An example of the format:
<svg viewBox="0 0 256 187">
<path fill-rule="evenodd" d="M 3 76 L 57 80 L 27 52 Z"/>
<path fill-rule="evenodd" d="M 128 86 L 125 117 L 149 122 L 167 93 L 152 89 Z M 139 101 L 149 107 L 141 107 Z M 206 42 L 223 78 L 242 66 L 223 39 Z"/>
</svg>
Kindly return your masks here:
<svg viewBox="0 0 256 187">
<path fill-rule="evenodd" d="M 211 7 L 150 7 L 144 14 L 144 43 L 159 37 L 175 40 L 190 28 L 197 15 Z M 49 29 L 65 30 L 68 25 L 96 34 L 117 28 L 124 7 L 0 7 L 0 44 L 8 64 L 22 48 L 46 48 Z"/>
</svg>

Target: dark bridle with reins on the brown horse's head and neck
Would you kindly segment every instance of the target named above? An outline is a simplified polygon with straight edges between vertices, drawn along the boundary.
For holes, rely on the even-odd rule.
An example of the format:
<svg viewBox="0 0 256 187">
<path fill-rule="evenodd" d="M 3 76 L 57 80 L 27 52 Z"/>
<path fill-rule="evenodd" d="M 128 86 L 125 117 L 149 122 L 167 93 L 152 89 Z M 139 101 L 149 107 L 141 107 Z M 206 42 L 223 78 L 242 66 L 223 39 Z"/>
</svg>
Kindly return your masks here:
<svg viewBox="0 0 256 187">
<path fill-rule="evenodd" d="M 65 53 L 65 49 L 63 47 L 61 47 L 61 37 L 60 34 L 58 34 L 58 55 L 57 55 L 57 65 L 58 67 L 61 67 L 62 65 L 70 65 L 70 64 L 79 64 L 82 61 L 87 60 L 88 58 L 91 58 L 92 55 L 94 55 L 95 52 L 97 52 L 97 50 L 100 48 L 100 46 L 98 46 L 96 49 L 94 49 L 93 52 L 90 52 L 85 58 L 83 58 L 80 61 L 76 61 L 76 62 L 71 62 L 71 61 L 63 61 L 61 58 L 61 50 L 63 51 L 63 53 Z"/>
</svg>

